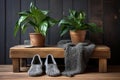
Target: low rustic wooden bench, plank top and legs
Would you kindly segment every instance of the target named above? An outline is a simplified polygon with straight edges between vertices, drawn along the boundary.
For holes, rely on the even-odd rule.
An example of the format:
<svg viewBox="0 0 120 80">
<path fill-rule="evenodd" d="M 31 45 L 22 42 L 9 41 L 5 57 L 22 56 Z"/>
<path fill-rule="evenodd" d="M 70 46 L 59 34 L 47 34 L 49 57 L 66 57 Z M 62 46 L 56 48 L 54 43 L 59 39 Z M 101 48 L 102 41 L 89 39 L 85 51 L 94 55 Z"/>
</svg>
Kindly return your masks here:
<svg viewBox="0 0 120 80">
<path fill-rule="evenodd" d="M 35 54 L 39 54 L 41 58 L 45 58 L 49 53 L 51 53 L 55 58 L 64 58 L 63 48 L 25 48 L 24 45 L 11 47 L 9 56 L 12 59 L 13 72 L 20 71 L 20 59 L 32 58 Z M 99 59 L 99 72 L 107 72 L 107 59 L 110 58 L 110 48 L 105 45 L 97 45 L 91 58 Z"/>
</svg>

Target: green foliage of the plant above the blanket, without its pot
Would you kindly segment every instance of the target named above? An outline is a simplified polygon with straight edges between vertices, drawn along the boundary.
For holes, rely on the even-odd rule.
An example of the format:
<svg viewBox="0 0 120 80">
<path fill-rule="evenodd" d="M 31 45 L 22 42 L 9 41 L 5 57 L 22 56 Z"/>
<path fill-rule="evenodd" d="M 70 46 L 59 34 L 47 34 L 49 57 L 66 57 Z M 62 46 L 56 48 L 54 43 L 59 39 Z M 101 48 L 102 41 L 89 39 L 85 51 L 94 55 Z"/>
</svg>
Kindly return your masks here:
<svg viewBox="0 0 120 80">
<path fill-rule="evenodd" d="M 69 30 L 89 30 L 91 32 L 102 32 L 102 29 L 95 23 L 87 23 L 84 11 L 69 10 L 69 15 L 59 21 L 60 36 L 63 36 Z"/>
</svg>

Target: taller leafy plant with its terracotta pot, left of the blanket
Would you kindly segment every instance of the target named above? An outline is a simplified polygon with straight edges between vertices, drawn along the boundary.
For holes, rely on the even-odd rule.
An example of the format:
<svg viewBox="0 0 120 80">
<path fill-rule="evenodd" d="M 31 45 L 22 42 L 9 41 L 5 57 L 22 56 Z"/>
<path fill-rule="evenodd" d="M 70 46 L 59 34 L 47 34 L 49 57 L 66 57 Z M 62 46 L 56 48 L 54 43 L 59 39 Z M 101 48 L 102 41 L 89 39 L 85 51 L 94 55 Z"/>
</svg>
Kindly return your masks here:
<svg viewBox="0 0 120 80">
<path fill-rule="evenodd" d="M 47 30 L 54 26 L 57 20 L 48 16 L 48 11 L 38 9 L 33 2 L 30 3 L 28 11 L 19 12 L 19 15 L 20 18 L 16 22 L 14 36 L 16 36 L 19 29 L 25 33 L 27 28 L 32 27 L 34 33 L 30 33 L 31 45 L 44 46 Z"/>
</svg>

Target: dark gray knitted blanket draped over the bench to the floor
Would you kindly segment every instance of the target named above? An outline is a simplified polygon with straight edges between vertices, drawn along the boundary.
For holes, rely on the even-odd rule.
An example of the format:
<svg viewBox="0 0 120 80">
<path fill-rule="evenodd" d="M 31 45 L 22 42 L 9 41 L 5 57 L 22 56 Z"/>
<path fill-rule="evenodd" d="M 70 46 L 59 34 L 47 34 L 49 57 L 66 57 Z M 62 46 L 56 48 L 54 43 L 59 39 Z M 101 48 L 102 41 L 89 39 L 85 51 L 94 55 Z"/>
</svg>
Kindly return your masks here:
<svg viewBox="0 0 120 80">
<path fill-rule="evenodd" d="M 62 75 L 74 76 L 75 74 L 83 73 L 95 44 L 86 41 L 74 45 L 70 40 L 61 40 L 57 45 L 65 49 L 65 70 Z"/>
</svg>

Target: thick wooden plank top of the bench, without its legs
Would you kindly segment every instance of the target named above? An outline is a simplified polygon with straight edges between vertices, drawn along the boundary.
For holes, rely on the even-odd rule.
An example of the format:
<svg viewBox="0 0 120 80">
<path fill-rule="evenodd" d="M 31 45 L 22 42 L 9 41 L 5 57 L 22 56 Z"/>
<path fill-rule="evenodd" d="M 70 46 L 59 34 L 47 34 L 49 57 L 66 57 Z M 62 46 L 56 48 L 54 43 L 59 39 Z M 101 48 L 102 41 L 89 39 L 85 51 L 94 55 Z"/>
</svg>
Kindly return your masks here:
<svg viewBox="0 0 120 80">
<path fill-rule="evenodd" d="M 40 54 L 45 58 L 47 54 L 52 54 L 55 58 L 64 58 L 64 49 L 59 47 L 31 47 L 17 45 L 10 48 L 10 58 L 31 58 L 35 54 Z M 110 48 L 105 45 L 97 45 L 91 58 L 110 58 Z"/>
</svg>

